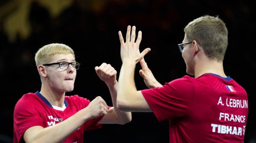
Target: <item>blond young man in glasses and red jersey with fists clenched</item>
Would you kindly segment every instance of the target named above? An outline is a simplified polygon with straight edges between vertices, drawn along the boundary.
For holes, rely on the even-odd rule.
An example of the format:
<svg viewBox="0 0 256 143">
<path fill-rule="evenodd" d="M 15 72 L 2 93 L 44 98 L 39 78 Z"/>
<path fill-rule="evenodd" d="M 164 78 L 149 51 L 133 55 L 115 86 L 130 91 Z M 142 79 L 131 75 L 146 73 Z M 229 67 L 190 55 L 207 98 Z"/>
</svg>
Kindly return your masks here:
<svg viewBox="0 0 256 143">
<path fill-rule="evenodd" d="M 41 78 L 41 90 L 20 98 L 14 108 L 13 142 L 83 142 L 86 130 L 101 124 L 126 124 L 131 112 L 116 106 L 116 70 L 106 63 L 95 67 L 99 78 L 108 86 L 113 107 L 100 97 L 90 101 L 78 95 L 66 96 L 74 89 L 80 63 L 73 49 L 53 43 L 41 47 L 35 62 Z"/>
</svg>

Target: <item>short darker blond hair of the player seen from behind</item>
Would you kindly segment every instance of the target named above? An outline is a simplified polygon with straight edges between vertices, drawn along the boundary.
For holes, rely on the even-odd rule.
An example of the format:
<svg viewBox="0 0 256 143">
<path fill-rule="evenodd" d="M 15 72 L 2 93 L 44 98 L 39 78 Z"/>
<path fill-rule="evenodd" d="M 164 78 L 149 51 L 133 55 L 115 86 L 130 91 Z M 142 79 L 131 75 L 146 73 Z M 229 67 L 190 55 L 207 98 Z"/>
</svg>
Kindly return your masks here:
<svg viewBox="0 0 256 143">
<path fill-rule="evenodd" d="M 209 59 L 223 61 L 228 44 L 226 24 L 218 16 L 201 16 L 184 28 L 189 41 L 196 40 Z"/>
</svg>

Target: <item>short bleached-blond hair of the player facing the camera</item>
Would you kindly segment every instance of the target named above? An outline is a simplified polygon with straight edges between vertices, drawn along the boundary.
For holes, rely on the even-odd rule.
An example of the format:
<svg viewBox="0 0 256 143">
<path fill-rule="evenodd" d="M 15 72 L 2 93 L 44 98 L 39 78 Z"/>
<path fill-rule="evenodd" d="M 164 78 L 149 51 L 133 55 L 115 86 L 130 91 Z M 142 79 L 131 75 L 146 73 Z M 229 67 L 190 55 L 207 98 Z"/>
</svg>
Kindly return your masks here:
<svg viewBox="0 0 256 143">
<path fill-rule="evenodd" d="M 42 64 L 47 64 L 50 62 L 50 58 L 55 54 L 73 54 L 75 53 L 72 48 L 65 44 L 52 43 L 41 47 L 35 54 L 36 67 Z"/>
</svg>

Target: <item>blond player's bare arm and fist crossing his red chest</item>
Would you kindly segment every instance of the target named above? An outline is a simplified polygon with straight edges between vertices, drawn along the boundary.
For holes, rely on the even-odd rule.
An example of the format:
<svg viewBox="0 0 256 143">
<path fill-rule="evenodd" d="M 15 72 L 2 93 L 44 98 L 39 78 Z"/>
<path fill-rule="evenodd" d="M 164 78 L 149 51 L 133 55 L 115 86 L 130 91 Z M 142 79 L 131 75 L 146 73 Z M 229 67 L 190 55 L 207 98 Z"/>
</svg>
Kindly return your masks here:
<svg viewBox="0 0 256 143">
<path fill-rule="evenodd" d="M 86 108 L 76 112 L 63 122 L 47 128 L 30 127 L 24 133 L 24 140 L 25 142 L 62 142 L 84 122 L 106 115 L 107 112 L 108 105 L 98 96 Z"/>
</svg>

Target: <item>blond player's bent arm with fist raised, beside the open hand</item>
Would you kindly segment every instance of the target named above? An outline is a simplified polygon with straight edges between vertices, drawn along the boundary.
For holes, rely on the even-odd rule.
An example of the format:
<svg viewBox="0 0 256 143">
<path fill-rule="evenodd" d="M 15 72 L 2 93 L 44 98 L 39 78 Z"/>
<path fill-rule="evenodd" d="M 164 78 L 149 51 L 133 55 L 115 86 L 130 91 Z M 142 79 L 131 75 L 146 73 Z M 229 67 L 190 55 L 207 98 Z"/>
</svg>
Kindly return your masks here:
<svg viewBox="0 0 256 143">
<path fill-rule="evenodd" d="M 117 71 L 110 65 L 102 63 L 99 67 L 95 67 L 95 71 L 99 78 L 106 83 L 110 90 L 113 107 L 109 109 L 108 113 L 99 121 L 102 124 L 126 124 L 131 122 L 132 113 L 121 111 L 117 108 L 117 87 L 116 80 Z"/>
</svg>

